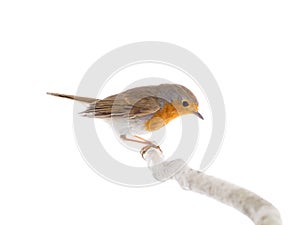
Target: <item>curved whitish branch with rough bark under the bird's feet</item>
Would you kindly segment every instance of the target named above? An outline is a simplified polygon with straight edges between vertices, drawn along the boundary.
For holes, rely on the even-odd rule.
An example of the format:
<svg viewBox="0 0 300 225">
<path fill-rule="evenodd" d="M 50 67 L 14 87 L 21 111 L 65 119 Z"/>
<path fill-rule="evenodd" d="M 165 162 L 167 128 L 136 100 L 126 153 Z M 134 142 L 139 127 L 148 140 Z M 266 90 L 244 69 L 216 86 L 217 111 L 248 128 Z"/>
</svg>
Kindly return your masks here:
<svg viewBox="0 0 300 225">
<path fill-rule="evenodd" d="M 155 179 L 175 179 L 185 190 L 195 191 L 230 205 L 248 216 L 256 225 L 281 225 L 278 210 L 269 202 L 234 184 L 191 169 L 183 160 L 164 161 L 156 149 L 145 154 Z"/>
</svg>

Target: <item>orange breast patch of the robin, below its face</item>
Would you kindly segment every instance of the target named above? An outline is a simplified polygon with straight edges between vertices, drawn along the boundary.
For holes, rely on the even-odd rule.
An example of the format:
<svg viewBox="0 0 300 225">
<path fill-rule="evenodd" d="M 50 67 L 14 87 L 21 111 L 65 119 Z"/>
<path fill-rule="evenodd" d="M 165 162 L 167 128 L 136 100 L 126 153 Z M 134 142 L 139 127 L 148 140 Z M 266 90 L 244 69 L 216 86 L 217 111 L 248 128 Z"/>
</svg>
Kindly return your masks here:
<svg viewBox="0 0 300 225">
<path fill-rule="evenodd" d="M 159 111 L 157 111 L 145 123 L 146 130 L 147 131 L 158 130 L 178 116 L 179 116 L 179 114 L 178 114 L 176 108 L 170 103 L 165 103 L 164 107 L 162 109 L 160 109 Z"/>
</svg>

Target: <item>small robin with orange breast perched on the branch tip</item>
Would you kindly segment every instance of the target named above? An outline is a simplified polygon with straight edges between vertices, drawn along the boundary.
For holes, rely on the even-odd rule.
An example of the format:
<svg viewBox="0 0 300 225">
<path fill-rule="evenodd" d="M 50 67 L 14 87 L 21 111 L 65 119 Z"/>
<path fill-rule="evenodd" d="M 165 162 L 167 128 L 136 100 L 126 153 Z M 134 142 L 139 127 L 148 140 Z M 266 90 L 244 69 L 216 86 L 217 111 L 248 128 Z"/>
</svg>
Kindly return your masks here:
<svg viewBox="0 0 300 225">
<path fill-rule="evenodd" d="M 177 117 L 198 112 L 196 96 L 183 85 L 163 83 L 134 87 L 104 99 L 47 92 L 49 95 L 87 104 L 81 116 L 112 121 L 123 141 L 144 144 L 141 154 L 151 147 L 160 147 L 139 135 L 161 129 Z"/>
</svg>

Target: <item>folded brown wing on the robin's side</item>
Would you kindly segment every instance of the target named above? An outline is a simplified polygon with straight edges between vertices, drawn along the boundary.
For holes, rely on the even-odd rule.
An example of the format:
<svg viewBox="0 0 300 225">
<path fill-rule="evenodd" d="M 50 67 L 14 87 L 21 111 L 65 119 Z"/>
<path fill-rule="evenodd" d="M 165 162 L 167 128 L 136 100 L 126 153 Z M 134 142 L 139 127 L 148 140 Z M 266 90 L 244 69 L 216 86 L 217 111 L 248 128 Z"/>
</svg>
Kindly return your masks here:
<svg viewBox="0 0 300 225">
<path fill-rule="evenodd" d="M 126 96 L 112 95 L 90 104 L 90 107 L 82 114 L 96 118 L 129 117 L 133 119 L 154 114 L 158 110 L 160 110 L 160 100 L 155 97 L 145 97 L 133 102 Z"/>
</svg>

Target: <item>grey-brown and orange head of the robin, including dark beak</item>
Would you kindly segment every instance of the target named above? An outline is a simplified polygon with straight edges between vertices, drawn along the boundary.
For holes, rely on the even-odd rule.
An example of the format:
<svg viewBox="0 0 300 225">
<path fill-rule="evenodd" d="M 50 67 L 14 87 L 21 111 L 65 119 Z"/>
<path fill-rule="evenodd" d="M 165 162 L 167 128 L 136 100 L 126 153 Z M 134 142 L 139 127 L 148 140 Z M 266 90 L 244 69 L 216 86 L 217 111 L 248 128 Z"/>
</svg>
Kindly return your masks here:
<svg viewBox="0 0 300 225">
<path fill-rule="evenodd" d="M 193 92 L 179 84 L 167 85 L 170 85 L 169 101 L 176 108 L 178 114 L 194 114 L 203 119 L 203 116 L 198 112 L 198 100 Z"/>
</svg>

